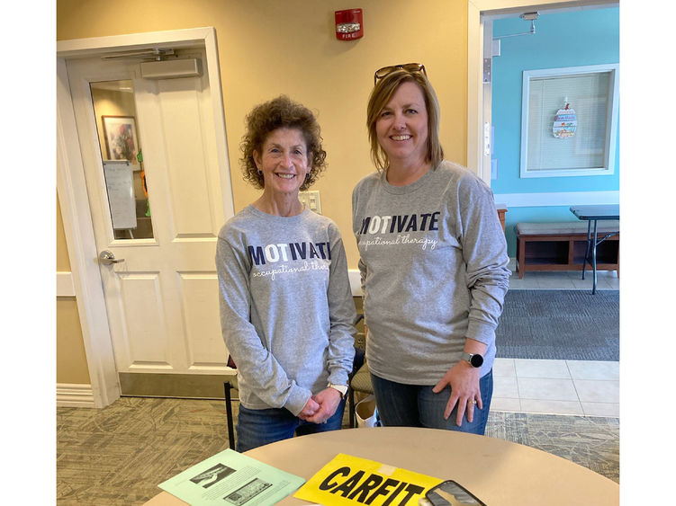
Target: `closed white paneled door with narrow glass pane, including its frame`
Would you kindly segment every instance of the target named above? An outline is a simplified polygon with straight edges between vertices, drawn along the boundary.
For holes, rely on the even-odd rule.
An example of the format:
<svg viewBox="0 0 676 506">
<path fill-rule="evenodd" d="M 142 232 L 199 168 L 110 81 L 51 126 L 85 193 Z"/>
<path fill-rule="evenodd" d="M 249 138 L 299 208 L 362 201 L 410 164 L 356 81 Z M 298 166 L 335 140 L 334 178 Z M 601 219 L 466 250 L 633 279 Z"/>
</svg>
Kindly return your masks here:
<svg viewBox="0 0 676 506">
<path fill-rule="evenodd" d="M 199 72 L 144 76 L 121 55 L 158 48 Z M 213 29 L 58 49 L 59 200 L 95 405 L 212 396 L 232 372 L 213 258 L 233 214 Z"/>
</svg>

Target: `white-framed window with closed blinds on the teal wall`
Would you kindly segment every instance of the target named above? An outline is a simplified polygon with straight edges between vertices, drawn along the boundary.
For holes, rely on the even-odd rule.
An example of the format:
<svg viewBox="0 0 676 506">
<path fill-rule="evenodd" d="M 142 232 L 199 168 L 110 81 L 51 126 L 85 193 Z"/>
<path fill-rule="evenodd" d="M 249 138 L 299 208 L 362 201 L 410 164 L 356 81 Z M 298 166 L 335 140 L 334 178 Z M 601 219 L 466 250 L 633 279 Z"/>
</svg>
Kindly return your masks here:
<svg viewBox="0 0 676 506">
<path fill-rule="evenodd" d="M 617 69 L 612 64 L 524 71 L 521 177 L 614 172 Z M 562 114 L 566 104 L 574 114 Z M 564 117 L 577 121 L 574 133 L 556 137 L 561 122 L 554 120 Z"/>
</svg>

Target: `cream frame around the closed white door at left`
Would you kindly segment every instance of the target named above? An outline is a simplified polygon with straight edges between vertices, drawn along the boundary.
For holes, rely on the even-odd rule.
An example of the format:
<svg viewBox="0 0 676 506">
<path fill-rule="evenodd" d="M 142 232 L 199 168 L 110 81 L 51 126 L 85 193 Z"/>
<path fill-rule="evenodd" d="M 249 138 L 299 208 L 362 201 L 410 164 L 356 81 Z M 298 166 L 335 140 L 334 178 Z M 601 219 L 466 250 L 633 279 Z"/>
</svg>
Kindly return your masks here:
<svg viewBox="0 0 676 506">
<path fill-rule="evenodd" d="M 218 164 L 221 173 L 223 215 L 234 214 L 230 159 L 221 93 L 221 66 L 213 27 L 152 31 L 57 42 L 57 191 L 68 245 L 68 259 L 85 344 L 94 405 L 112 404 L 120 397 L 101 271 L 97 262 L 85 170 L 80 154 L 73 100 L 68 83 L 68 58 L 96 57 L 130 49 L 180 49 L 203 45 L 209 72 Z"/>
</svg>

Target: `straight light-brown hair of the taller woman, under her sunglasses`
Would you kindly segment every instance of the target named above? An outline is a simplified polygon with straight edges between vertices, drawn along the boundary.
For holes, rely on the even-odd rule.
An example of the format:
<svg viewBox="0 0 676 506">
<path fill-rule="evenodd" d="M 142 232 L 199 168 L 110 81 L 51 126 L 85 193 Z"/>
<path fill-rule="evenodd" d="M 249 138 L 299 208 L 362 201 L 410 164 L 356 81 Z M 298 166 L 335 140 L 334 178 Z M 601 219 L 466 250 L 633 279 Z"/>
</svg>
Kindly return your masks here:
<svg viewBox="0 0 676 506">
<path fill-rule="evenodd" d="M 426 161 L 431 162 L 432 169 L 435 169 L 444 159 L 444 149 L 439 141 L 441 112 L 439 111 L 437 93 L 432 88 L 432 84 L 429 83 L 427 76 L 422 72 L 409 72 L 399 69 L 385 75 L 374 85 L 366 107 L 366 129 L 368 129 L 368 139 L 371 143 L 371 159 L 374 161 L 375 168 L 379 171 L 387 170 L 390 160 L 383 147 L 378 143 L 375 123 L 387 102 L 392 99 L 392 95 L 404 83 L 418 84 L 423 97 L 425 97 L 425 108 L 428 112 L 428 154 Z"/>
</svg>

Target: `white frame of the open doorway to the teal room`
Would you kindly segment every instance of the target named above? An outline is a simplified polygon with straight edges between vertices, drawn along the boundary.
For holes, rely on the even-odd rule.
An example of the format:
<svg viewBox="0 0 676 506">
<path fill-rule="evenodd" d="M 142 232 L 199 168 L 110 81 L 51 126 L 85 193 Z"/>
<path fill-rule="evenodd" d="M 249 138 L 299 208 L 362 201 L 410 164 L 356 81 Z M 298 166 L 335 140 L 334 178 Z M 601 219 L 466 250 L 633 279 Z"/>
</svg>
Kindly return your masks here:
<svg viewBox="0 0 676 506">
<path fill-rule="evenodd" d="M 467 2 L 467 163 L 491 184 L 491 155 L 483 155 L 482 124 L 491 123 L 491 84 L 483 84 L 484 21 L 527 10 L 570 10 L 618 4 L 615 0 L 468 0 Z M 489 20 L 491 22 L 491 20 Z M 484 96 L 485 92 L 485 96 Z"/>
</svg>

